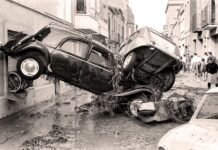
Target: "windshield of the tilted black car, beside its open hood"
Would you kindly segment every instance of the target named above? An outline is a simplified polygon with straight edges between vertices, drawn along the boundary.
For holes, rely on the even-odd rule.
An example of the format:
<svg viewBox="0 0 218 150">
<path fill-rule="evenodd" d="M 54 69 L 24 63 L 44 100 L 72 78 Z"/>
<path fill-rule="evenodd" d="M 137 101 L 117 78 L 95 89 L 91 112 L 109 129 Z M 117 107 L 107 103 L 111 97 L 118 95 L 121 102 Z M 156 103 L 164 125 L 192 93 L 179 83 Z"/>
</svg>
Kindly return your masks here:
<svg viewBox="0 0 218 150">
<path fill-rule="evenodd" d="M 37 38 L 39 41 L 42 41 L 42 43 L 57 47 L 58 44 L 66 37 L 72 36 L 72 33 L 67 32 L 65 30 L 57 29 L 57 28 L 49 28 L 50 31 L 45 36 L 42 36 L 42 38 Z M 45 30 L 46 31 L 46 30 Z M 43 32 L 43 31 L 41 31 Z"/>
</svg>

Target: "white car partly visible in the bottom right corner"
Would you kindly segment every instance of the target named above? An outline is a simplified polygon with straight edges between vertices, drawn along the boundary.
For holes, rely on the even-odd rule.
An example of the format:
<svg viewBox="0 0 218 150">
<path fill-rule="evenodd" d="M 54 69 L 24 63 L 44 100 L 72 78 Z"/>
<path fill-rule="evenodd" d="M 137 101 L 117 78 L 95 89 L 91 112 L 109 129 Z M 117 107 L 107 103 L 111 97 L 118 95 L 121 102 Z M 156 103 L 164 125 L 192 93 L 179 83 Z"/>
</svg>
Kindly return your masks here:
<svg viewBox="0 0 218 150">
<path fill-rule="evenodd" d="M 161 138 L 158 150 L 218 150 L 218 88 L 206 92 L 189 123 Z"/>
</svg>

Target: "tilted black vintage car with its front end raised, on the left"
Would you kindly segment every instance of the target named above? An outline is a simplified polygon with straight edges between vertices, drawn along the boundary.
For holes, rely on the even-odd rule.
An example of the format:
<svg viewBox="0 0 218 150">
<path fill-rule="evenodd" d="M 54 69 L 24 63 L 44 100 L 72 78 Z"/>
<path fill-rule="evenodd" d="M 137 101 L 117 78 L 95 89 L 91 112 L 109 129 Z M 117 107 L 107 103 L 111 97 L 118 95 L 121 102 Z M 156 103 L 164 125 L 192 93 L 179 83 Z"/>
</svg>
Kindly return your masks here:
<svg viewBox="0 0 218 150">
<path fill-rule="evenodd" d="M 17 34 L 2 50 L 18 60 L 24 79 L 48 74 L 95 94 L 112 90 L 113 53 L 77 30 L 49 25 L 35 35 Z"/>
</svg>

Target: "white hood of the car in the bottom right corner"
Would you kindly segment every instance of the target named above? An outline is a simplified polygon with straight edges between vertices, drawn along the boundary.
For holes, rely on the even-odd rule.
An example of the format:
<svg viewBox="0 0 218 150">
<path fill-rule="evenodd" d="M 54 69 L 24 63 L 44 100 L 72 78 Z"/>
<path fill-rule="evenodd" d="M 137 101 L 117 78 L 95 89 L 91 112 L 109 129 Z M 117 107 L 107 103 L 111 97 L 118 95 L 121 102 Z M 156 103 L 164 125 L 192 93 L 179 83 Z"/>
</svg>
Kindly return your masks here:
<svg viewBox="0 0 218 150">
<path fill-rule="evenodd" d="M 195 121 L 169 131 L 159 142 L 168 150 L 216 150 L 218 121 Z"/>
</svg>

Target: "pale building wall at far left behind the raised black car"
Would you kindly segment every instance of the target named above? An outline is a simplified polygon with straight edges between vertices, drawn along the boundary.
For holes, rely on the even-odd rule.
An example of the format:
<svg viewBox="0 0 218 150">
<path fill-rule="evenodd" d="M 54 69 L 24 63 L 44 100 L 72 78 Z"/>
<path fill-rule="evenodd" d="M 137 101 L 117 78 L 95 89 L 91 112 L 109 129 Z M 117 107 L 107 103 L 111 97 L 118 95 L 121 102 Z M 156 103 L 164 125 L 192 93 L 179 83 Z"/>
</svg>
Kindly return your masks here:
<svg viewBox="0 0 218 150">
<path fill-rule="evenodd" d="M 71 24 L 71 1 L 2 0 L 0 9 L 0 41 L 5 43 L 16 33 L 33 34 L 50 22 Z M 47 7 L 52 6 L 52 7 Z M 15 71 L 16 61 L 0 53 L 0 118 L 54 98 L 56 85 L 41 77 L 27 91 L 8 92 L 8 73 Z M 56 91 L 58 92 L 58 91 Z M 16 101 L 16 102 L 12 102 Z"/>
</svg>

